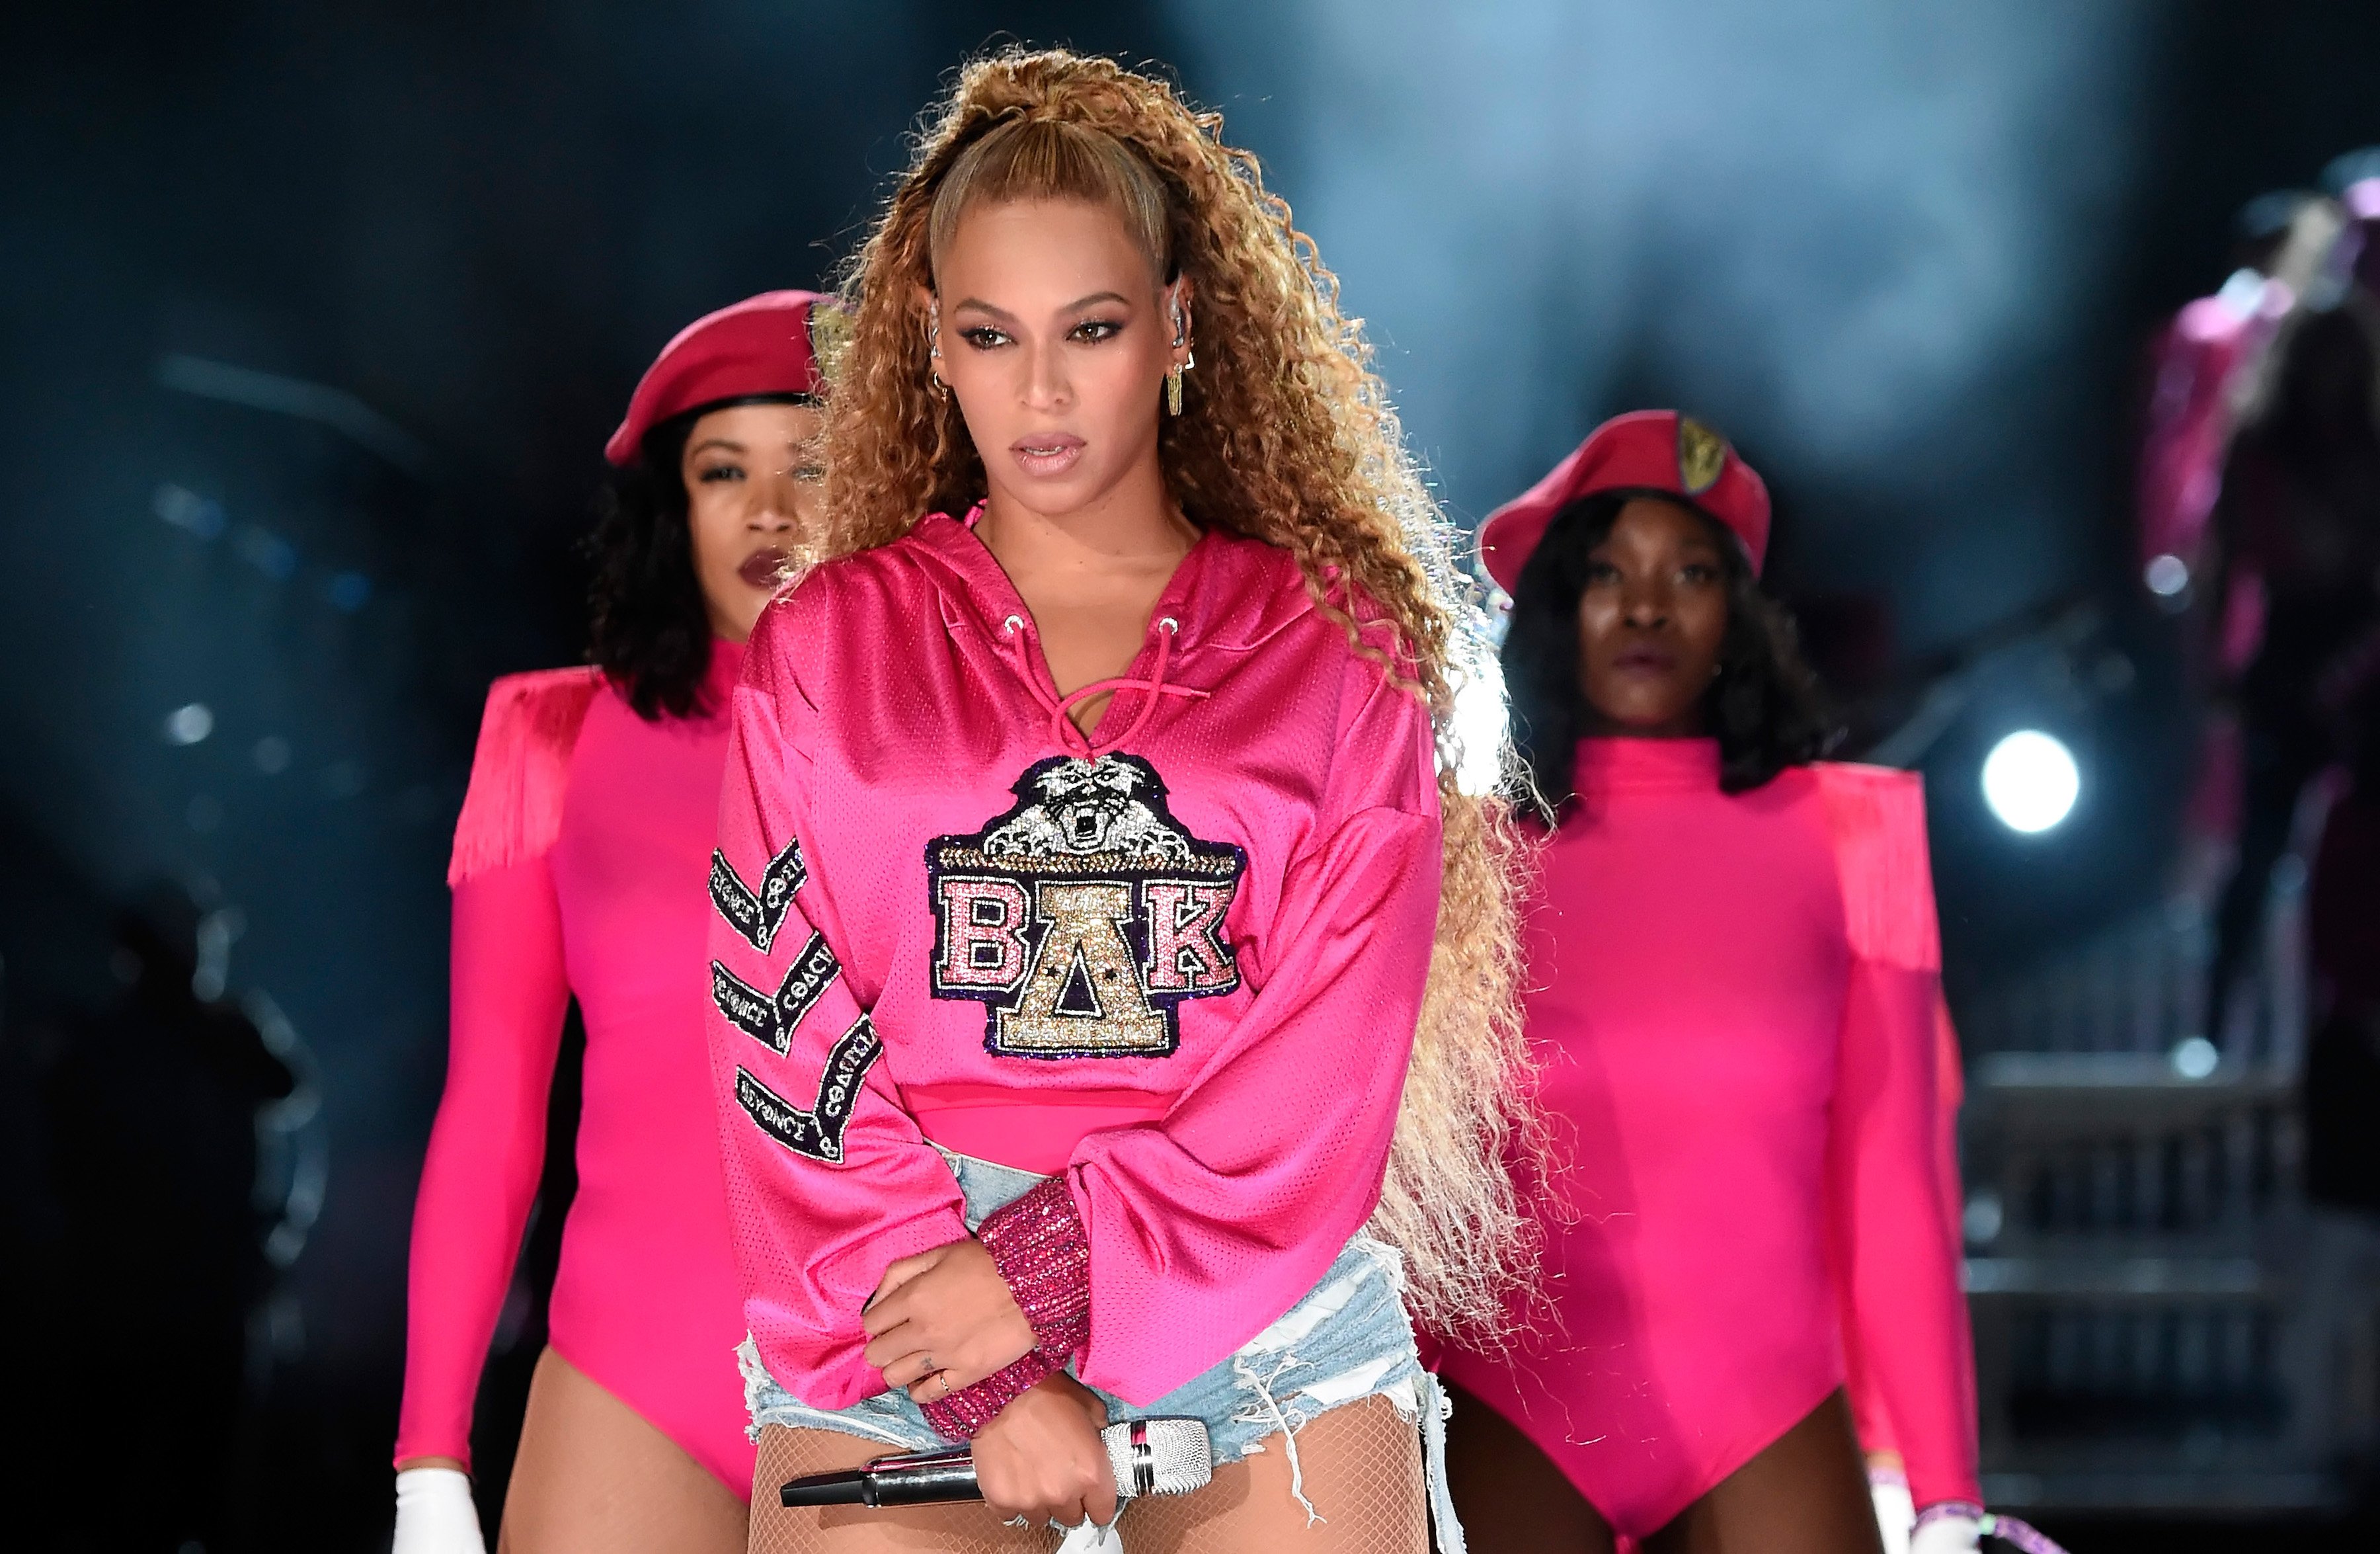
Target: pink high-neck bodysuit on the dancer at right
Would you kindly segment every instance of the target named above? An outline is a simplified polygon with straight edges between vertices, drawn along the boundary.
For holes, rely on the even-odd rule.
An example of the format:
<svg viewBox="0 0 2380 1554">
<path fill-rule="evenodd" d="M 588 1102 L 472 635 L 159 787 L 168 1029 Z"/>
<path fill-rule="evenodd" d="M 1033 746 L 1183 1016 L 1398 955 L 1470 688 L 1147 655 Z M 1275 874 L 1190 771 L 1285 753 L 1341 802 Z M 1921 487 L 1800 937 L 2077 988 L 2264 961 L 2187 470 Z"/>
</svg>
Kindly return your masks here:
<svg viewBox="0 0 2380 1554">
<path fill-rule="evenodd" d="M 1916 1504 L 1978 1499 L 1916 778 L 1726 795 L 1711 740 L 1585 740 L 1578 795 L 1526 926 L 1559 1323 L 1447 1373 L 1645 1537 L 1844 1385 L 1849 1330 Z"/>
</svg>

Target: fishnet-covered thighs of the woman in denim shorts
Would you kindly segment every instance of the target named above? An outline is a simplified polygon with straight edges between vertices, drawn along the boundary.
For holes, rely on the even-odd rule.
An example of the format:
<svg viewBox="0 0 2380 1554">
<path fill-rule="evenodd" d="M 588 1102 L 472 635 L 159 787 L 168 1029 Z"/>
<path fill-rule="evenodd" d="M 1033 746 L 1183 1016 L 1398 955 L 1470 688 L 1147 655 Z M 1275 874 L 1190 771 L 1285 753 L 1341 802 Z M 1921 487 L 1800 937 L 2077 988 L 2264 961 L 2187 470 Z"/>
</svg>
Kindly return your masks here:
<svg viewBox="0 0 2380 1554">
<path fill-rule="evenodd" d="M 866 1506 L 788 1511 L 776 1487 L 800 1473 L 857 1468 L 885 1447 L 833 1430 L 771 1425 L 752 1478 L 750 1554 L 1047 1554 L 1059 1533 L 1009 1528 L 985 1506 Z M 1216 1468 L 1195 1495 L 1126 1506 L 1126 1554 L 1423 1554 L 1428 1502 L 1421 1433 L 1385 1397 L 1330 1409 L 1297 1433 L 1302 1490 L 1323 1521 L 1290 1495 L 1290 1454 L 1269 1435 L 1264 1452 Z"/>
</svg>

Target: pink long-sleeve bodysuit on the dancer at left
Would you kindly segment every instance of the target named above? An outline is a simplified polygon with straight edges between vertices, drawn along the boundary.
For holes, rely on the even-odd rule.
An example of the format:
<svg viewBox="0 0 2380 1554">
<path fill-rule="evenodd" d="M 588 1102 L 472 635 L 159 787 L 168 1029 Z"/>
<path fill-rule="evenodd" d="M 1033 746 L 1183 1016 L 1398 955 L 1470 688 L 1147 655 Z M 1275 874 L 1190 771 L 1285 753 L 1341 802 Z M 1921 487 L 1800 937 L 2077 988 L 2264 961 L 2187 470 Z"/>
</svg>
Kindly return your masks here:
<svg viewBox="0 0 2380 1554">
<path fill-rule="evenodd" d="M 743 1337 L 702 1011 L 702 881 L 738 643 L 709 714 L 640 719 L 593 669 L 488 693 L 455 833 L 452 1054 L 421 1166 L 397 1461 L 469 1461 L 471 1399 L 545 1157 L 562 1014 L 585 1019 L 578 1197 L 550 1342 L 752 1492 Z"/>
</svg>

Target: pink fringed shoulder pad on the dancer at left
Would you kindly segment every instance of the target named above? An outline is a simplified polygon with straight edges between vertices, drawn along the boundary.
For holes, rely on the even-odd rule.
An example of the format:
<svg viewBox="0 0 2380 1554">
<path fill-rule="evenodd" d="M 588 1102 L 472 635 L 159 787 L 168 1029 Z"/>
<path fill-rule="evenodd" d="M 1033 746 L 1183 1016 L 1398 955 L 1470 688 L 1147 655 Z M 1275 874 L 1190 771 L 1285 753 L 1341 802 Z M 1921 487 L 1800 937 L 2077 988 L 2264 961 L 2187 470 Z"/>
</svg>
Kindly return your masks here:
<svg viewBox="0 0 2380 1554">
<path fill-rule="evenodd" d="M 507 673 L 488 688 L 447 888 L 555 845 L 571 750 L 597 688 L 602 671 L 593 666 Z"/>
</svg>

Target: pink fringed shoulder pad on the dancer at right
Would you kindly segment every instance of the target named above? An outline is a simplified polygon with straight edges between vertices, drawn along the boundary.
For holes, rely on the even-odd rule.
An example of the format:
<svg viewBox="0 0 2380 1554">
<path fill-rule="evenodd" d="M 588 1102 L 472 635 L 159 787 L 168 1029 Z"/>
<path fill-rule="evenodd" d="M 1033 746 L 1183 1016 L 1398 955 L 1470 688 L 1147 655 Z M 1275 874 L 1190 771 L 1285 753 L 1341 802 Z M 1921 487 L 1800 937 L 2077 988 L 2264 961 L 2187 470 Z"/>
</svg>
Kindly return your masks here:
<svg viewBox="0 0 2380 1554">
<path fill-rule="evenodd" d="M 1852 954 L 1906 971 L 1940 971 L 1942 930 L 1925 850 L 1923 778 L 1844 762 L 1818 762 L 1811 773 L 1835 838 Z"/>
</svg>

